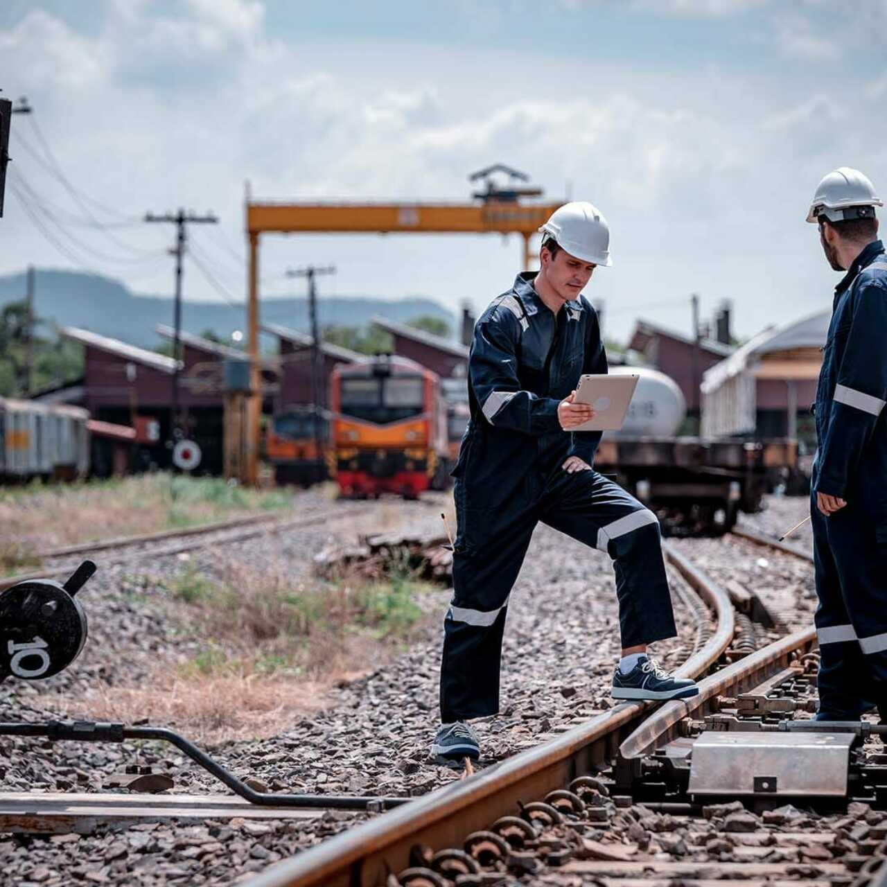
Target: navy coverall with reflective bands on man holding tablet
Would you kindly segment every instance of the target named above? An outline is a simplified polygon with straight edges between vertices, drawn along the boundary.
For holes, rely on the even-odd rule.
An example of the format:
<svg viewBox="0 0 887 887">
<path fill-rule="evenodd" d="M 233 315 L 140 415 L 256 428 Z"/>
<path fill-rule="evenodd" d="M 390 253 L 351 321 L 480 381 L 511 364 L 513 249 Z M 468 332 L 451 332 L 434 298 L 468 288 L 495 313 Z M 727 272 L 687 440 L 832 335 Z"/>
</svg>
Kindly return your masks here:
<svg viewBox="0 0 887 887">
<path fill-rule="evenodd" d="M 569 456 L 593 464 L 600 432 L 565 432 L 557 408 L 582 373 L 607 372 L 607 356 L 592 306 L 580 296 L 555 315 L 534 277 L 518 275 L 491 302 L 468 358 L 471 420 L 452 472 L 458 532 L 443 723 L 498 711 L 508 595 L 539 521 L 613 558 L 623 647 L 676 633 L 655 514 L 595 471 L 561 468 Z"/>
</svg>

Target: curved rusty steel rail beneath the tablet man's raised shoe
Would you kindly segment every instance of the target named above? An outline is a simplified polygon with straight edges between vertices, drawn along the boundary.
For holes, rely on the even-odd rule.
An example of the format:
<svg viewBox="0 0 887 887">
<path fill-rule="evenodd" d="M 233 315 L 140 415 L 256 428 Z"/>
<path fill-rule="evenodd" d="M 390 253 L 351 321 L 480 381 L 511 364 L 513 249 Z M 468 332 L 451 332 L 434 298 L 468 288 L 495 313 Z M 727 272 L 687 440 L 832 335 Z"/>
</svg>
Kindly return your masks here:
<svg viewBox="0 0 887 887">
<path fill-rule="evenodd" d="M 733 608 L 726 592 L 705 585 L 670 545 L 666 557 L 710 602 L 718 629 L 676 673 L 697 677 L 726 650 L 733 636 Z M 687 572 L 685 573 L 685 570 Z M 506 758 L 467 779 L 437 789 L 378 818 L 278 863 L 251 879 L 249 887 L 374 887 L 409 865 L 413 844 L 461 846 L 473 831 L 513 812 L 519 801 L 545 797 L 616 754 L 619 742 L 640 722 L 651 703 L 622 703 L 534 749 Z"/>
</svg>

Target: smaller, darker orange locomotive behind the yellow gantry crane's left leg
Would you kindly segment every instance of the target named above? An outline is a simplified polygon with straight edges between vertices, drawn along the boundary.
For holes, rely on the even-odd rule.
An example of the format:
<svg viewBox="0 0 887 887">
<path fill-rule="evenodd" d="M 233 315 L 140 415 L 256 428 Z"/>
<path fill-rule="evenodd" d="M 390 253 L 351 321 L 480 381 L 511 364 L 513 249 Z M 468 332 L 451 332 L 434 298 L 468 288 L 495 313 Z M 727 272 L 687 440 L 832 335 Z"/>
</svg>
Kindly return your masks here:
<svg viewBox="0 0 887 887">
<path fill-rule="evenodd" d="M 271 419 L 265 449 L 277 483 L 309 487 L 326 480 L 329 412 L 319 408 L 317 421 L 315 429 L 315 408 L 310 404 L 289 406 Z"/>
</svg>

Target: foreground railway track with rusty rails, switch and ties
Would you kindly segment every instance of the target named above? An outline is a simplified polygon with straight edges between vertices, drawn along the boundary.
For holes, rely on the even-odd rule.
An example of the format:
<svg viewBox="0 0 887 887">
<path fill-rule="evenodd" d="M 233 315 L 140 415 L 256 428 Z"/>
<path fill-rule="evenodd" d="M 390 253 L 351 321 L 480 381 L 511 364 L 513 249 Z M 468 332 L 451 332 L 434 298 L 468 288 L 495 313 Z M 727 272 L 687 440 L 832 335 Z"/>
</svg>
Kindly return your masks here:
<svg viewBox="0 0 887 887">
<path fill-rule="evenodd" d="M 793 546 L 741 535 L 812 561 Z M 281 862 L 251 887 L 450 887 L 517 878 L 570 887 L 709 887 L 736 878 L 862 887 L 873 879 L 875 887 L 879 873 L 887 877 L 887 816 L 871 805 L 887 801 L 887 756 L 870 747 L 866 754 L 865 736 L 849 726 L 836 726 L 827 741 L 809 731 L 812 625 L 737 651 L 741 625 L 731 594 L 676 547 L 666 546 L 666 554 L 714 616 L 707 640 L 679 670 L 700 678 L 698 696 L 655 711 L 620 704 Z M 820 757 L 823 742 L 838 759 L 831 770 Z M 749 766 L 738 773 L 726 766 L 718 755 L 725 743 L 742 746 Z M 770 750 L 763 766 L 773 773 L 755 770 L 762 745 Z M 836 805 L 836 812 L 806 815 L 786 804 L 786 789 L 796 804 Z"/>
</svg>

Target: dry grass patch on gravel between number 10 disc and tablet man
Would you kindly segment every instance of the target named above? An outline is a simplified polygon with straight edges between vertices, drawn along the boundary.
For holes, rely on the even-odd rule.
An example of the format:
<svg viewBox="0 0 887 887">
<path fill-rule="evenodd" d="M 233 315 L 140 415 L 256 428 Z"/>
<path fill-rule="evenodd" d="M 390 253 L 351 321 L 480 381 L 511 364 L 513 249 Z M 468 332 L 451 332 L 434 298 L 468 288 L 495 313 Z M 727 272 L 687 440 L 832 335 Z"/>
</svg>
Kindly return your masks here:
<svg viewBox="0 0 887 887">
<path fill-rule="evenodd" d="M 159 663 L 139 687 L 101 687 L 78 708 L 149 718 L 208 745 L 279 734 L 402 650 L 425 623 L 417 600 L 430 587 L 402 573 L 299 584 L 280 564 L 230 562 L 220 580 L 186 571 L 169 596 L 178 619 L 200 626 L 200 653 Z"/>
</svg>

